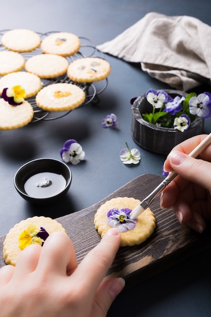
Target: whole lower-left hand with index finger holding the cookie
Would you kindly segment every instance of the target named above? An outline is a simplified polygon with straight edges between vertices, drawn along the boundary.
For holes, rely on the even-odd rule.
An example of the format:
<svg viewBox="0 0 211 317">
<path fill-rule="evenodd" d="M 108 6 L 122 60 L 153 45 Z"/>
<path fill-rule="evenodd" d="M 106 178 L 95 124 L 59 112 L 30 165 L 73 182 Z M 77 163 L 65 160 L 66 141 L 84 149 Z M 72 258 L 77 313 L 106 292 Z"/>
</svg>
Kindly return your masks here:
<svg viewBox="0 0 211 317">
<path fill-rule="evenodd" d="M 25 248 L 16 266 L 0 269 L 1 317 L 104 317 L 124 287 L 122 279 L 103 280 L 120 245 L 110 229 L 77 265 L 73 245 L 54 232 L 43 247 Z"/>
</svg>

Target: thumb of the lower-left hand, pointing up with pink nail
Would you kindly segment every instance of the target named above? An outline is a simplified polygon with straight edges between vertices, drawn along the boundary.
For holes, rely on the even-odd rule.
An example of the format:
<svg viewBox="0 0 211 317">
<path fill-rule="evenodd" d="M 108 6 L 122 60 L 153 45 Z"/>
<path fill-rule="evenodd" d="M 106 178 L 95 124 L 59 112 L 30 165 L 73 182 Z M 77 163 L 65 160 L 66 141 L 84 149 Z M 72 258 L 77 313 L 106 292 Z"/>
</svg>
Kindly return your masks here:
<svg viewBox="0 0 211 317">
<path fill-rule="evenodd" d="M 106 316 L 109 307 L 122 291 L 124 285 L 125 282 L 121 278 L 104 280 L 96 292 L 92 315 L 98 317 Z"/>
</svg>

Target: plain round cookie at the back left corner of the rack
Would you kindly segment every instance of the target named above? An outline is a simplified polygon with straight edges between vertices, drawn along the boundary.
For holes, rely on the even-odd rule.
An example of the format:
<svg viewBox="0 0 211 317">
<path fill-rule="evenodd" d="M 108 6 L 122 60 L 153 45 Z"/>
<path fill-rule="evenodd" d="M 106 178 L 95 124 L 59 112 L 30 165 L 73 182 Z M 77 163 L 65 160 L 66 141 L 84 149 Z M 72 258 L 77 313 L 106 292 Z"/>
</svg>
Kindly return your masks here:
<svg viewBox="0 0 211 317">
<path fill-rule="evenodd" d="M 31 52 L 39 47 L 40 36 L 27 29 L 14 29 L 7 31 L 2 36 L 2 45 L 15 52 Z"/>
</svg>

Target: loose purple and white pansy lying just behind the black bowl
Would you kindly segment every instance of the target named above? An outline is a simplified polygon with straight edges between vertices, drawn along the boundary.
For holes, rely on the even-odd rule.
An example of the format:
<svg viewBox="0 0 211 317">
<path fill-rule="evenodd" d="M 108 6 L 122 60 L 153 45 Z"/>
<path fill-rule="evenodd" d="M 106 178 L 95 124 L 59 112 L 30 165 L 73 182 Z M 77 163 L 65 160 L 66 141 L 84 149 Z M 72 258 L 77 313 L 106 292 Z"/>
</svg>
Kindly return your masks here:
<svg viewBox="0 0 211 317">
<path fill-rule="evenodd" d="M 64 147 L 60 149 L 62 160 L 66 163 L 76 165 L 85 157 L 85 151 L 77 141 L 70 139 L 64 143 Z"/>
</svg>

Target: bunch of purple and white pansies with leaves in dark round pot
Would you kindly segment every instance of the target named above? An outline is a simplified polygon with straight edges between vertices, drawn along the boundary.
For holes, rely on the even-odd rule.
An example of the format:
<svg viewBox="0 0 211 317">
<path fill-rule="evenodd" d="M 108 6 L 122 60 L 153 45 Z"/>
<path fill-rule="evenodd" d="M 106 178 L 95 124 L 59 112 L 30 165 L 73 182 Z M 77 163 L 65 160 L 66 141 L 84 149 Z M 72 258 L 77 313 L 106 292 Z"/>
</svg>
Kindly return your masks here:
<svg viewBox="0 0 211 317">
<path fill-rule="evenodd" d="M 143 113 L 142 117 L 158 127 L 185 132 L 197 116 L 211 118 L 211 94 L 208 92 L 172 98 L 165 91 L 150 89 L 146 99 L 152 105 L 152 111 Z"/>
</svg>

